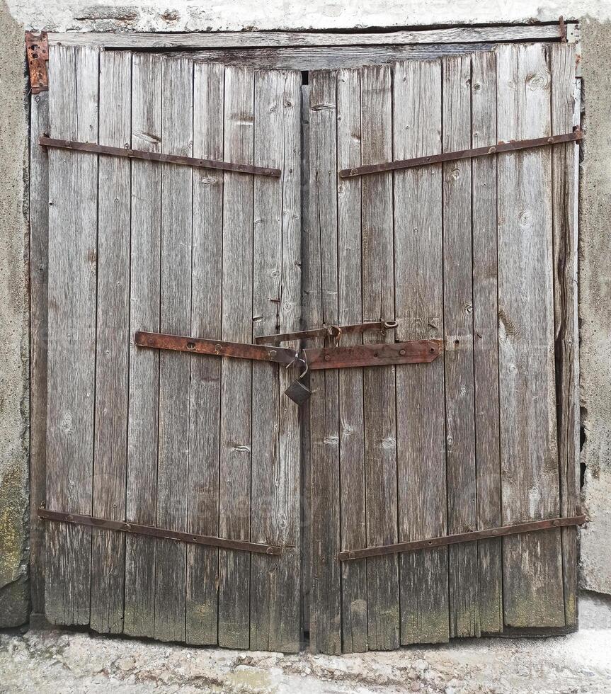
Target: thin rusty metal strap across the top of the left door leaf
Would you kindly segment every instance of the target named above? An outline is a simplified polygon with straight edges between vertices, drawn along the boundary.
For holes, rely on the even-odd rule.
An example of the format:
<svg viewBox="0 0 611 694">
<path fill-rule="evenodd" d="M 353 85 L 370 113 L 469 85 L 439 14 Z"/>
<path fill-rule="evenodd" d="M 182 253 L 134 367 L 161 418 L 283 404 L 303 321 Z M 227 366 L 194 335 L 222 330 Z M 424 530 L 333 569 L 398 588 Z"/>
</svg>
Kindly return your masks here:
<svg viewBox="0 0 611 694">
<path fill-rule="evenodd" d="M 161 161 L 165 164 L 182 164 L 183 166 L 195 166 L 196 169 L 221 169 L 222 171 L 234 171 L 238 174 L 259 174 L 261 176 L 273 176 L 278 178 L 282 171 L 271 169 L 268 166 L 251 166 L 251 164 L 232 164 L 229 161 L 215 161 L 215 159 L 198 159 L 197 157 L 183 157 L 180 154 L 160 154 L 159 152 L 146 152 L 143 149 L 125 149 L 123 147 L 108 147 L 105 144 L 93 144 L 92 142 L 73 142 L 72 140 L 55 140 L 52 137 L 40 137 L 38 144 L 42 147 L 55 147 L 57 149 L 72 149 L 76 152 L 91 152 L 93 154 L 109 154 L 111 157 L 127 157 L 127 159 L 145 159 L 146 161 Z"/>
</svg>

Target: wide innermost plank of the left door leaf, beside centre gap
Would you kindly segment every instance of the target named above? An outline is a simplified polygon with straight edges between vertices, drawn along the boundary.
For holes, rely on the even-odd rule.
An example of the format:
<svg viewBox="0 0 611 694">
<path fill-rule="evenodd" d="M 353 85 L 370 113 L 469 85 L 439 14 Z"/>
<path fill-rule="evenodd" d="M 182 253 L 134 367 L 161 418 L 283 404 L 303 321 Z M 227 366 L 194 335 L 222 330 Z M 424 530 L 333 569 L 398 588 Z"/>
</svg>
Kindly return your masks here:
<svg viewBox="0 0 611 694">
<path fill-rule="evenodd" d="M 257 72 L 254 90 L 254 163 L 282 171 L 254 179 L 252 321 L 270 334 L 300 318 L 301 76 Z M 294 377 L 253 363 L 251 540 L 285 550 L 251 556 L 251 649 L 299 651 L 299 421 L 283 394 Z"/>
</svg>

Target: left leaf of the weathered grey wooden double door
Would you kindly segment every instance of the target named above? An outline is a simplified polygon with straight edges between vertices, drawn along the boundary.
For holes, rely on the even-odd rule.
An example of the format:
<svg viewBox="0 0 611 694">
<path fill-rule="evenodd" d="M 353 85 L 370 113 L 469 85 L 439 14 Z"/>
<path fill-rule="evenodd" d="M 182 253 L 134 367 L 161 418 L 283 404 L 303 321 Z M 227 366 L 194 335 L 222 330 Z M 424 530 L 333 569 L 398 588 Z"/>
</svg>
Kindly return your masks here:
<svg viewBox="0 0 611 694">
<path fill-rule="evenodd" d="M 46 613 L 195 644 L 299 647 L 299 428 L 277 364 L 159 353 L 139 329 L 295 329 L 298 72 L 54 47 L 51 137 L 282 169 L 50 148 L 47 508 L 282 547 L 49 523 Z"/>
</svg>

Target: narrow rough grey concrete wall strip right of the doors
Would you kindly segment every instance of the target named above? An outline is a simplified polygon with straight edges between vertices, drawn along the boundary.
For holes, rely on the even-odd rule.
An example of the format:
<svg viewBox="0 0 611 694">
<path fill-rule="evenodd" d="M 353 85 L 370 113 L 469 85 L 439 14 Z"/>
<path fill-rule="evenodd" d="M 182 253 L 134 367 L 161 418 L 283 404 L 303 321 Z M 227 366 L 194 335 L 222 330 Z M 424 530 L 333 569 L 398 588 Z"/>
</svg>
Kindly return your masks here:
<svg viewBox="0 0 611 694">
<path fill-rule="evenodd" d="M 581 585 L 611 593 L 611 24 L 583 26 L 586 145 L 580 201 L 581 400 L 586 465 Z"/>
</svg>

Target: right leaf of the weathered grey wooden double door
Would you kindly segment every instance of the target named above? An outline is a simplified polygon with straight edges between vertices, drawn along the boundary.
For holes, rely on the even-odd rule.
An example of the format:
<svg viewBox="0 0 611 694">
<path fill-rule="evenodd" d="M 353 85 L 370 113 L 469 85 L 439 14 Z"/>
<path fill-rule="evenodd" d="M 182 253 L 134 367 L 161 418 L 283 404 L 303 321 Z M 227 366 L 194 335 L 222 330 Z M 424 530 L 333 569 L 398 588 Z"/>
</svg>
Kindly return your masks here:
<svg viewBox="0 0 611 694">
<path fill-rule="evenodd" d="M 307 322 L 445 344 L 312 375 L 314 649 L 576 625 L 572 527 L 337 561 L 576 511 L 575 144 L 338 176 L 571 132 L 574 64 L 503 45 L 310 76 Z"/>
</svg>

